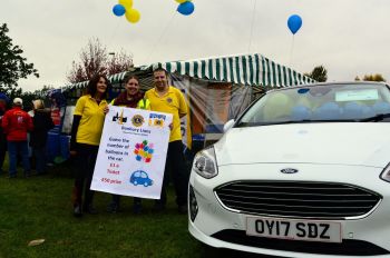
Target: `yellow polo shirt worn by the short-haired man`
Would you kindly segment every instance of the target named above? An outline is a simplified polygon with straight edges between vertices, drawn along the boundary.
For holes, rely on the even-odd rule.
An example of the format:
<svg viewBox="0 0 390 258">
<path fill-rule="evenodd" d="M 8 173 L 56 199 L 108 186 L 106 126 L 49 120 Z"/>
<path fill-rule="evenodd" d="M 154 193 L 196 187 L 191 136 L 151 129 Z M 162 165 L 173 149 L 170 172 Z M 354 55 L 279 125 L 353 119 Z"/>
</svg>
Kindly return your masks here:
<svg viewBox="0 0 390 258">
<path fill-rule="evenodd" d="M 169 142 L 182 140 L 181 117 L 187 115 L 187 103 L 182 91 L 169 86 L 168 91 L 159 97 L 153 88 L 146 91 L 145 98 L 150 101 L 150 110 L 174 115 Z"/>
</svg>

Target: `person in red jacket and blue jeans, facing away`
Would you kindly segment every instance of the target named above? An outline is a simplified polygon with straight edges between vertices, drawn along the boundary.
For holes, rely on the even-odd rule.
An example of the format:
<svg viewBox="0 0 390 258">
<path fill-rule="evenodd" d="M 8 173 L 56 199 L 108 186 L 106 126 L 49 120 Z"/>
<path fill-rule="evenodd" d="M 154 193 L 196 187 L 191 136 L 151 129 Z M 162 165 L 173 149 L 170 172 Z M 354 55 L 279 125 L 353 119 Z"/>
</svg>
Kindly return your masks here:
<svg viewBox="0 0 390 258">
<path fill-rule="evenodd" d="M 2 117 L 2 128 L 7 135 L 9 177 L 17 177 L 17 156 L 21 153 L 25 177 L 30 176 L 30 160 L 28 153 L 27 132 L 32 131 L 31 117 L 22 110 L 23 101 L 20 98 L 13 99 L 13 108 Z"/>
</svg>

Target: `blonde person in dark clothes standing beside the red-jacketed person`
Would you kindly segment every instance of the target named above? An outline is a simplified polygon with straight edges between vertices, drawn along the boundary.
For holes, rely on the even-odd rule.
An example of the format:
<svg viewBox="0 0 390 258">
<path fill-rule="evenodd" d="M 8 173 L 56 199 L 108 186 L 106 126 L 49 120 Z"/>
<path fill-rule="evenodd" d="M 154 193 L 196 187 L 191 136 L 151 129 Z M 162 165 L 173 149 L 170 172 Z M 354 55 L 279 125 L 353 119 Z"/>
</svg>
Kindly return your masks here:
<svg viewBox="0 0 390 258">
<path fill-rule="evenodd" d="M 46 172 L 46 142 L 48 131 L 55 127 L 50 117 L 50 110 L 45 109 L 45 103 L 41 99 L 32 101 L 32 123 L 33 130 L 30 132 L 30 146 L 32 156 L 36 158 L 37 175 Z"/>
</svg>

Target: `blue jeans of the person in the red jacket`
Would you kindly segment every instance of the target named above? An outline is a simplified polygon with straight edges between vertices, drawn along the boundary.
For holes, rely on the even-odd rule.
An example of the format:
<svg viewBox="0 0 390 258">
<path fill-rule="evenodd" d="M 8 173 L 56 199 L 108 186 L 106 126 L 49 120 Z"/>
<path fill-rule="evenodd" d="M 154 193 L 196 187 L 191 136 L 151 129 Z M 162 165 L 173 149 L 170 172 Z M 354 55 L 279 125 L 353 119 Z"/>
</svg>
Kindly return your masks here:
<svg viewBox="0 0 390 258">
<path fill-rule="evenodd" d="M 29 151 L 27 146 L 27 140 L 25 141 L 8 141 L 8 157 L 9 157 L 9 176 L 17 176 L 17 156 L 18 152 L 21 153 L 25 175 L 28 176 L 30 173 L 30 160 L 29 160 Z"/>
</svg>

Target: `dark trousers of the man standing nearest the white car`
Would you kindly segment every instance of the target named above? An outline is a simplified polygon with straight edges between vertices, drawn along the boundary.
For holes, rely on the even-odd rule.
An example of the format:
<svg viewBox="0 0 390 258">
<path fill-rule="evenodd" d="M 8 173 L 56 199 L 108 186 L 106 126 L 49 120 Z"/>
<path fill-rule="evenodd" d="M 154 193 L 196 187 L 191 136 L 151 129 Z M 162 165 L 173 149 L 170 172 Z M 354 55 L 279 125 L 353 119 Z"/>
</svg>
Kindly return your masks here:
<svg viewBox="0 0 390 258">
<path fill-rule="evenodd" d="M 176 191 L 177 206 L 184 206 L 187 204 L 189 175 L 186 168 L 183 150 L 182 140 L 172 141 L 168 145 L 162 195 L 160 199 L 156 201 L 159 205 L 165 206 L 167 202 L 166 187 L 169 185 L 169 172 Z"/>
</svg>

